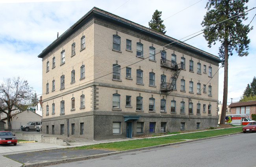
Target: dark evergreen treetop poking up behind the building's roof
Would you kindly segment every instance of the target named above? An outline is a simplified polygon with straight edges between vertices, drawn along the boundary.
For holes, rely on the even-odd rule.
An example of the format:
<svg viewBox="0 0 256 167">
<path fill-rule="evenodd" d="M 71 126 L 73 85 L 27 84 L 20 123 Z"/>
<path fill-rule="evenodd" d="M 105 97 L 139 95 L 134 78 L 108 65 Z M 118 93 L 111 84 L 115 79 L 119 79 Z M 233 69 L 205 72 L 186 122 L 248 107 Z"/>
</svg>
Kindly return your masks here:
<svg viewBox="0 0 256 167">
<path fill-rule="evenodd" d="M 162 12 L 156 10 L 154 14 L 152 15 L 152 19 L 148 22 L 149 28 L 158 31 L 162 34 L 165 34 L 165 25 L 162 24 L 163 20 L 161 19 Z"/>
</svg>

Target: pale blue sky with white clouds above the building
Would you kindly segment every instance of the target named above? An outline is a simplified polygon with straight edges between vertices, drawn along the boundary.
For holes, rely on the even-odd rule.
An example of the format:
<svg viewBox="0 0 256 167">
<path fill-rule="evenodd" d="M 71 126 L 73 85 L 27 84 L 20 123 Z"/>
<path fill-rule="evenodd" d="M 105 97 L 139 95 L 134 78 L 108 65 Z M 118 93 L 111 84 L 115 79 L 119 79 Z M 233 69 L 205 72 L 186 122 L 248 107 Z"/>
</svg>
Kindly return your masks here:
<svg viewBox="0 0 256 167">
<path fill-rule="evenodd" d="M 37 56 L 93 7 L 148 27 L 156 9 L 162 11 L 165 35 L 178 40 L 193 37 L 203 28 L 207 0 L 0 0 L 0 83 L 20 77 L 42 94 L 42 59 Z M 250 0 L 248 9 L 256 7 Z M 256 9 L 244 24 L 254 26 L 248 34 L 249 55 L 228 59 L 228 104 L 239 101 L 256 76 Z M 191 36 L 189 36 L 191 35 Z M 189 37 L 187 37 L 189 36 Z M 218 56 L 218 43 L 211 48 L 203 35 L 185 43 Z M 224 69 L 219 70 L 219 101 L 223 101 Z M 232 99 L 231 99 L 232 98 Z"/>
</svg>

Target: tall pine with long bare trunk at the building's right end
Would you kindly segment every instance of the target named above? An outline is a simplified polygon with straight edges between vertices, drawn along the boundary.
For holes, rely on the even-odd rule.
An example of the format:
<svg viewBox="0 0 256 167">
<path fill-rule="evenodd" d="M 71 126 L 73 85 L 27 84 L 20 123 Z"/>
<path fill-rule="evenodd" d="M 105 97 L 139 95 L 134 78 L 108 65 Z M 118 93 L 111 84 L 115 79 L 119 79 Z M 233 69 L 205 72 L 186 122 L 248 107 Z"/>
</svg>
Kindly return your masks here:
<svg viewBox="0 0 256 167">
<path fill-rule="evenodd" d="M 211 44 L 216 44 L 216 41 L 221 43 L 219 57 L 223 60 L 224 64 L 222 111 L 226 111 L 228 98 L 228 57 L 233 54 L 232 51 L 236 51 L 240 57 L 249 54 L 247 50 L 250 39 L 248 39 L 247 34 L 252 28 L 242 23 L 243 20 L 247 20 L 247 14 L 244 12 L 248 9 L 245 6 L 245 3 L 248 1 L 209 0 L 206 4 L 207 12 L 202 21 L 202 26 L 206 28 L 204 29 L 204 37 L 208 41 L 209 47 L 211 47 Z M 222 23 L 218 24 L 219 22 Z M 221 112 L 221 124 L 225 123 L 225 117 L 226 112 Z"/>
</svg>

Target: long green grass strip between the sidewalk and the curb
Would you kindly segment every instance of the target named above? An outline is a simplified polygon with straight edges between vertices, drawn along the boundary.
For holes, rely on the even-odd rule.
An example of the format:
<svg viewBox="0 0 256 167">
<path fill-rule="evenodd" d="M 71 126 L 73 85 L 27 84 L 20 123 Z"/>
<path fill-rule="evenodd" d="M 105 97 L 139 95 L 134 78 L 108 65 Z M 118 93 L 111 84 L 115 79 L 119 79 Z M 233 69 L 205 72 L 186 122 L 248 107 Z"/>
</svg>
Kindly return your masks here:
<svg viewBox="0 0 256 167">
<path fill-rule="evenodd" d="M 145 138 L 145 139 L 136 139 L 136 140 L 128 140 L 128 141 L 118 141 L 113 143 L 100 143 L 95 145 L 73 147 L 69 149 L 108 149 L 108 150 L 121 151 L 121 150 L 137 149 L 137 148 L 143 148 L 143 147 L 149 147 L 149 146 L 161 145 L 161 144 L 167 144 L 167 143 L 175 143 L 179 141 L 184 141 L 184 139 L 200 139 L 200 138 L 207 138 L 212 136 L 219 136 L 223 134 L 231 134 L 236 132 L 242 132 L 242 127 L 209 130 L 205 132 L 199 131 L 195 133 L 163 136 L 160 138 Z"/>
</svg>

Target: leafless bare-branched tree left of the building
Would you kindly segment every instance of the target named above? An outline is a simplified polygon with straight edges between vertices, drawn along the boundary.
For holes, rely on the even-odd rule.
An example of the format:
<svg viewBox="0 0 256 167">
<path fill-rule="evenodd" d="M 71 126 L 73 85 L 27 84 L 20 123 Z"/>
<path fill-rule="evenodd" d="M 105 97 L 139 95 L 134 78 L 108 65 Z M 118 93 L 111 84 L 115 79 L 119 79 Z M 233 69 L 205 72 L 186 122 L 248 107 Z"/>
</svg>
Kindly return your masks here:
<svg viewBox="0 0 256 167">
<path fill-rule="evenodd" d="M 4 83 L 0 84 L 0 111 L 7 115 L 8 130 L 11 130 L 11 112 L 16 110 L 13 106 L 30 101 L 32 90 L 28 82 L 22 81 L 20 77 L 4 79 Z"/>
</svg>

